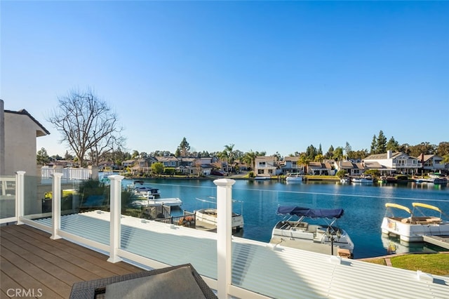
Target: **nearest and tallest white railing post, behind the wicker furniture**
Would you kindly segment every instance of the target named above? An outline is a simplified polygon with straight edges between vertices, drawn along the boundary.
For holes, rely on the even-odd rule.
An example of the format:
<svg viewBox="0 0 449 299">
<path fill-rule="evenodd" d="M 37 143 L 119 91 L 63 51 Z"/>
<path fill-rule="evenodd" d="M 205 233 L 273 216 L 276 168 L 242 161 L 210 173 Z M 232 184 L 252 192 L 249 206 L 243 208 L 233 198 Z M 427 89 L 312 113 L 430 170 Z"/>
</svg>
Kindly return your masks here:
<svg viewBox="0 0 449 299">
<path fill-rule="evenodd" d="M 232 284 L 232 185 L 236 181 L 213 182 L 217 185 L 217 295 L 225 299 Z"/>
</svg>

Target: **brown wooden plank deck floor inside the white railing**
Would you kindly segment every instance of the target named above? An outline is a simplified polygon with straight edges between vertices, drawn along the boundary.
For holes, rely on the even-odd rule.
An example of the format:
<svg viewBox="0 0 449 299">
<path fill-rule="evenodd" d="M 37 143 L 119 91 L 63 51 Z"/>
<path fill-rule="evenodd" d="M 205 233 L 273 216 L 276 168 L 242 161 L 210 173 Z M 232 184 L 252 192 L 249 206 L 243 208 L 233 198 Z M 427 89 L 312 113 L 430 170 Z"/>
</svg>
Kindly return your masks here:
<svg viewBox="0 0 449 299">
<path fill-rule="evenodd" d="M 78 281 L 143 271 L 27 225 L 0 227 L 0 298 L 69 298 Z"/>
</svg>

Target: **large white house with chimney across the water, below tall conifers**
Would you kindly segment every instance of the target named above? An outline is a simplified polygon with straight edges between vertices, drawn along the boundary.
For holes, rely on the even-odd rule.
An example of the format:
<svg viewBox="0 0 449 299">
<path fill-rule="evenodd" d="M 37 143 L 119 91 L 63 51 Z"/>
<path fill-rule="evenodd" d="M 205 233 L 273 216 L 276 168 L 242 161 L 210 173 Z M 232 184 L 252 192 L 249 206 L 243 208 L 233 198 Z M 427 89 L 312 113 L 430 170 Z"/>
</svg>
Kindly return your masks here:
<svg viewBox="0 0 449 299">
<path fill-rule="evenodd" d="M 381 175 L 391 175 L 393 173 L 402 173 L 413 175 L 421 168 L 420 160 L 415 157 L 410 157 L 403 152 L 387 151 L 384 154 L 372 154 L 363 162 L 365 165 L 377 162 L 382 166 L 380 168 Z"/>
</svg>

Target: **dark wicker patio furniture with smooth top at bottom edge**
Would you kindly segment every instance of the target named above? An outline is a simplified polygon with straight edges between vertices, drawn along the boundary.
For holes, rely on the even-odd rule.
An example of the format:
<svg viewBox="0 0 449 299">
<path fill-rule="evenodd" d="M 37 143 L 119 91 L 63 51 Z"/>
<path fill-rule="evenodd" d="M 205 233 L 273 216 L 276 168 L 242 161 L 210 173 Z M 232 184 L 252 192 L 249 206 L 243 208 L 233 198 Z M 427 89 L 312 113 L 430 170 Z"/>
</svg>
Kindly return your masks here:
<svg viewBox="0 0 449 299">
<path fill-rule="evenodd" d="M 217 298 L 191 264 L 77 282 L 70 299 Z"/>
</svg>

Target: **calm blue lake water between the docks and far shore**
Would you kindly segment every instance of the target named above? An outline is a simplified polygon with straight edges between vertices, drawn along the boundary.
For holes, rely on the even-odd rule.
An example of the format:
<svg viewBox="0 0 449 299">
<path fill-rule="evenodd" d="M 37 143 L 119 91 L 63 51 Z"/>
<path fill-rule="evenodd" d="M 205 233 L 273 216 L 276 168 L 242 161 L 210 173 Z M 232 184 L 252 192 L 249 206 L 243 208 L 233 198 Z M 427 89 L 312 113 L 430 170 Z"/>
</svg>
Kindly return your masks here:
<svg viewBox="0 0 449 299">
<path fill-rule="evenodd" d="M 212 180 L 145 180 L 161 190 L 161 198 L 179 197 L 182 209 L 194 211 L 207 205 L 196 197 L 215 197 L 217 190 Z M 123 180 L 130 184 L 131 180 Z M 272 228 L 282 217 L 276 215 L 279 205 L 297 205 L 309 208 L 344 208 L 337 221 L 354 241 L 354 258 L 385 255 L 388 246 L 398 246 L 397 251 L 427 251 L 437 249 L 426 244 L 411 246 L 396 244 L 394 239 L 382 237 L 380 225 L 385 214 L 385 203 L 392 202 L 412 208 L 413 201 L 438 206 L 449 215 L 449 188 L 433 184 L 408 185 L 341 185 L 328 182 L 285 182 L 236 180 L 232 188 L 234 211 L 241 212 L 245 228 L 243 237 L 268 242 Z M 212 207 L 213 205 L 209 205 Z M 182 211 L 175 212 L 182 213 Z M 386 244 L 386 245 L 385 245 Z"/>
</svg>

